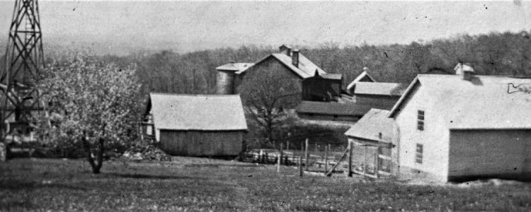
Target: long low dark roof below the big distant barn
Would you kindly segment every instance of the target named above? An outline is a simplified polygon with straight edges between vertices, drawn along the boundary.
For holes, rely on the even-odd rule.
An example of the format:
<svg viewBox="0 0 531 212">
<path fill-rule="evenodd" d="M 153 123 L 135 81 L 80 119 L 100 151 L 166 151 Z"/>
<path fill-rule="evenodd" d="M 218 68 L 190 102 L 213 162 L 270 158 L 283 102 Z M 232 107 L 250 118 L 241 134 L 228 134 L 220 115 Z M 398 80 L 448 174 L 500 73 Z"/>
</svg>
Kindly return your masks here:
<svg viewBox="0 0 531 212">
<path fill-rule="evenodd" d="M 362 116 L 371 109 L 371 105 L 355 102 L 316 102 L 302 101 L 295 108 L 299 113 Z"/>
</svg>

